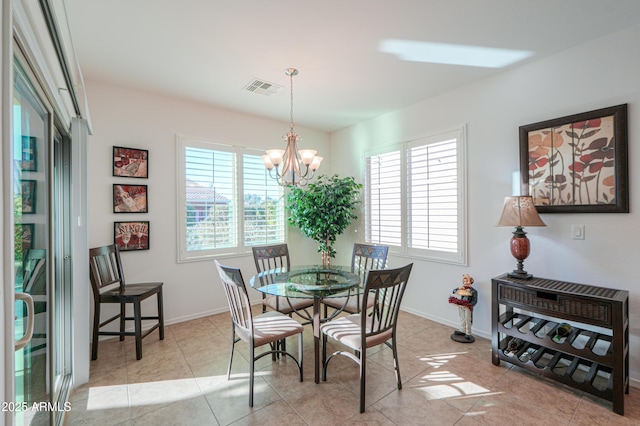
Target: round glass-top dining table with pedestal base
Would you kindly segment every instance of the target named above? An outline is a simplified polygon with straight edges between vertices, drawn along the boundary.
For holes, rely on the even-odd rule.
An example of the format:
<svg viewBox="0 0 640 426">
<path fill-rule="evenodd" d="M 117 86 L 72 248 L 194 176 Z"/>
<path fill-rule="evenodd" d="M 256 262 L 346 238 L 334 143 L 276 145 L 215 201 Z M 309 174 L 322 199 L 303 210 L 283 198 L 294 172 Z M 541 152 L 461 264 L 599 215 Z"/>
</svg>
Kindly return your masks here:
<svg viewBox="0 0 640 426">
<path fill-rule="evenodd" d="M 346 297 L 362 294 L 364 285 L 358 274 L 348 266 L 304 265 L 277 268 L 251 277 L 254 289 L 272 296 L 289 299 L 313 299 L 313 312 L 295 310 L 313 326 L 315 382 L 320 382 L 320 323 L 331 320 L 340 313 L 333 312 L 327 318 L 320 317 L 320 302 L 330 297 Z M 293 307 L 292 307 L 293 308 Z"/>
</svg>

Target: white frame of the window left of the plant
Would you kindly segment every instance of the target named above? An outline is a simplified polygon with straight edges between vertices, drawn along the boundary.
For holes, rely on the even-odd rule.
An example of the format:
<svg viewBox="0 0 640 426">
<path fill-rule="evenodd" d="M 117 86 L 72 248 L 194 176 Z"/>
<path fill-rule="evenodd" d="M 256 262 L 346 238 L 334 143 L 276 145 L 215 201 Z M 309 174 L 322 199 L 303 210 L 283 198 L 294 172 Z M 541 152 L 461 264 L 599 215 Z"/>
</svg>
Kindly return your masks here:
<svg viewBox="0 0 640 426">
<path fill-rule="evenodd" d="M 231 247 L 222 247 L 204 250 L 188 251 L 186 248 L 187 238 L 187 209 L 186 209 L 186 149 L 198 148 L 214 151 L 225 151 L 233 154 L 234 169 L 234 221 L 237 223 L 235 229 L 236 244 Z M 213 258 L 237 257 L 251 254 L 251 245 L 245 245 L 245 214 L 244 214 L 244 156 L 260 156 L 263 150 L 256 148 L 246 148 L 236 145 L 229 145 L 219 142 L 207 141 L 182 135 L 176 135 L 176 209 L 177 209 L 177 262 L 197 262 L 208 261 Z M 265 168 L 266 170 L 266 168 Z M 281 199 L 284 202 L 284 190 L 281 191 Z M 284 206 L 283 206 L 284 210 Z M 282 215 L 283 241 L 287 240 L 287 219 L 286 213 Z M 266 243 L 265 243 L 266 244 Z"/>
</svg>

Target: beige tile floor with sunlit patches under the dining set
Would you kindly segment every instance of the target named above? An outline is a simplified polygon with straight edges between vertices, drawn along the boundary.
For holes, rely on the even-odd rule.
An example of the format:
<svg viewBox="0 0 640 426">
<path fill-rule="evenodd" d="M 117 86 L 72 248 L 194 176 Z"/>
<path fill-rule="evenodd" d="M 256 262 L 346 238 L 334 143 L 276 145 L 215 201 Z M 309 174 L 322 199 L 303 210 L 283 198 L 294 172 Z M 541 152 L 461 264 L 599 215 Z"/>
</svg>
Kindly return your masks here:
<svg viewBox="0 0 640 426">
<path fill-rule="evenodd" d="M 254 407 L 248 405 L 248 347 L 236 345 L 231 380 L 227 313 L 151 334 L 143 358 L 133 340 L 100 343 L 90 382 L 71 395 L 65 425 L 631 425 L 640 424 L 640 389 L 631 388 L 625 416 L 611 404 L 519 368 L 491 363 L 491 344 L 450 339 L 451 327 L 402 313 L 399 356 L 403 388 L 395 387 L 391 350 L 367 363 L 367 410 L 358 412 L 358 368 L 345 357 L 313 380 L 313 335 L 304 335 L 304 382 L 290 360 L 257 365 Z M 297 352 L 297 339 L 290 349 Z M 331 344 L 330 350 L 336 348 Z M 295 353 L 294 352 L 294 353 Z"/>
</svg>

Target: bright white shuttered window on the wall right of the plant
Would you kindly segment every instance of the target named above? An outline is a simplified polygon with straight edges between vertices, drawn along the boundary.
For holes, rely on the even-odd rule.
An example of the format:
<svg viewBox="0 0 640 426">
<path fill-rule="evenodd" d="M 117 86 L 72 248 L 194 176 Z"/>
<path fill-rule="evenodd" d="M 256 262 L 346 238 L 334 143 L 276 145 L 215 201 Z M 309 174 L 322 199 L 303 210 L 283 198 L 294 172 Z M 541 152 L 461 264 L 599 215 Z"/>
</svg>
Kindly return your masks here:
<svg viewBox="0 0 640 426">
<path fill-rule="evenodd" d="M 365 154 L 365 239 L 466 265 L 465 129 Z"/>
</svg>

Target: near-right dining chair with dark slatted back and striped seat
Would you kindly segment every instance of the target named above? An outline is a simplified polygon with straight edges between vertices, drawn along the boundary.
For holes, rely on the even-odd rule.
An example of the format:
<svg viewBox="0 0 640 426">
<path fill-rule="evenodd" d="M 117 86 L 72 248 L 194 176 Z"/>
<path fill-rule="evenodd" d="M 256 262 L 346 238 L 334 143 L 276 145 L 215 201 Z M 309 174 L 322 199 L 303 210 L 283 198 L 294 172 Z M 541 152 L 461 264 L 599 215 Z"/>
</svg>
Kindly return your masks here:
<svg viewBox="0 0 640 426">
<path fill-rule="evenodd" d="M 398 390 L 402 389 L 396 325 L 400 303 L 409 281 L 413 264 L 397 269 L 371 270 L 367 273 L 363 302 L 373 303 L 360 313 L 339 317 L 320 326 L 322 333 L 322 380 L 327 380 L 327 367 L 336 355 L 344 355 L 360 365 L 360 412 L 365 410 L 367 349 L 386 344 L 393 351 Z M 327 337 L 337 340 L 354 353 L 338 350 L 327 358 Z"/>
</svg>

